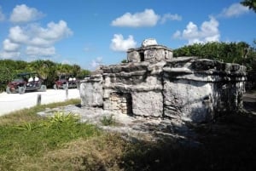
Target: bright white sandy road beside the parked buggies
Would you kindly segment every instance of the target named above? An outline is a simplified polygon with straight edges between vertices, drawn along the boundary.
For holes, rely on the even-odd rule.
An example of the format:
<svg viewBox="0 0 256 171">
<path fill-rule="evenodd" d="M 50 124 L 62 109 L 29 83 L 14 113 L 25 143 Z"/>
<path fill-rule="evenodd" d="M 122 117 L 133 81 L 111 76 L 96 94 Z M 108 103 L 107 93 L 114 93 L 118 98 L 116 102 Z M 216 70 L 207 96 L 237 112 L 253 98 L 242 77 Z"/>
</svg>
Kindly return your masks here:
<svg viewBox="0 0 256 171">
<path fill-rule="evenodd" d="M 41 94 L 41 104 L 60 102 L 67 99 L 80 98 L 79 89 L 68 89 L 68 95 L 64 89 L 47 89 L 46 92 L 26 92 L 25 94 L 0 94 L 0 116 L 10 111 L 17 111 L 37 105 L 38 94 Z"/>
</svg>

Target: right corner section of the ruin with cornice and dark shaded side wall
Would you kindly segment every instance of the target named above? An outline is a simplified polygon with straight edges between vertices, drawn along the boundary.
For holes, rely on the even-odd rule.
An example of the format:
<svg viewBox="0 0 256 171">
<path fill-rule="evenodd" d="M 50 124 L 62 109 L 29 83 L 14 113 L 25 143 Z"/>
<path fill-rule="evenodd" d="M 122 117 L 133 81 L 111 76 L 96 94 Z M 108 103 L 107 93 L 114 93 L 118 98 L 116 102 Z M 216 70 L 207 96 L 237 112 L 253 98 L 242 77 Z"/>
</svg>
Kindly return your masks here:
<svg viewBox="0 0 256 171">
<path fill-rule="evenodd" d="M 167 62 L 163 71 L 166 117 L 201 123 L 241 108 L 244 66 L 186 57 Z"/>
</svg>

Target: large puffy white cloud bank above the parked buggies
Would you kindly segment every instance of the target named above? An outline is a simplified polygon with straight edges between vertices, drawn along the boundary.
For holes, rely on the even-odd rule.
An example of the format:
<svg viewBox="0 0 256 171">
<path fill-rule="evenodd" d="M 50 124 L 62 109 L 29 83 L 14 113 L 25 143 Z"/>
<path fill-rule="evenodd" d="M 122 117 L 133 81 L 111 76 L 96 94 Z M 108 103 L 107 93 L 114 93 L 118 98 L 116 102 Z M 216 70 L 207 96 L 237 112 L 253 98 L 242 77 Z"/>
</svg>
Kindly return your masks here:
<svg viewBox="0 0 256 171">
<path fill-rule="evenodd" d="M 64 37 L 72 35 L 67 23 L 60 20 L 58 23 L 50 22 L 46 28 L 35 24 L 24 27 L 14 26 L 9 29 L 9 37 L 3 41 L 3 50 L 0 58 L 14 56 L 9 52 L 22 53 L 31 57 L 55 55 L 54 44 Z"/>
</svg>

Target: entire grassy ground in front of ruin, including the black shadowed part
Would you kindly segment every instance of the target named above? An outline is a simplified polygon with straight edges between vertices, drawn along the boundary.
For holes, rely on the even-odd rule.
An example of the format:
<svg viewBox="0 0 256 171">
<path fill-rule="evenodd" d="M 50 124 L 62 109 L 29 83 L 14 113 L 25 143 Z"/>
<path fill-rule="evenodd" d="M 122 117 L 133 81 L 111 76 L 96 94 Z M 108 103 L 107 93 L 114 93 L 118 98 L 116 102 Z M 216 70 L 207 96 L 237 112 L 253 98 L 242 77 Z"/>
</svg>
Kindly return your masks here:
<svg viewBox="0 0 256 171">
<path fill-rule="evenodd" d="M 189 145 L 177 143 L 175 138 L 130 142 L 124 140 L 123 135 L 103 133 L 95 125 L 79 123 L 73 113 L 56 112 L 53 117 L 36 117 L 33 112 L 42 109 L 4 116 L 9 119 L 0 124 L 0 170 L 256 168 L 256 117 L 252 115 L 229 115 L 219 118 L 216 123 L 196 127 L 199 136 L 195 140 L 201 145 Z M 11 121 L 17 118 L 22 122 Z M 106 117 L 106 120 L 111 123 L 113 118 Z"/>
</svg>

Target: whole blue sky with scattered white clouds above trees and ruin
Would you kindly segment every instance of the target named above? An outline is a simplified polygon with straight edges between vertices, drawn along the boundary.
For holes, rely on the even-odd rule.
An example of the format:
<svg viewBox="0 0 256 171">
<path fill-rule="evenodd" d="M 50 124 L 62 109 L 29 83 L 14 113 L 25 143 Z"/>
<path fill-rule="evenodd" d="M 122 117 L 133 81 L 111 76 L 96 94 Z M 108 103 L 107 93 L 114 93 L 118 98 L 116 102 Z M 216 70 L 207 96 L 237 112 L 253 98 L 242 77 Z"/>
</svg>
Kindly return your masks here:
<svg viewBox="0 0 256 171">
<path fill-rule="evenodd" d="M 0 59 L 52 60 L 94 70 L 146 38 L 168 48 L 256 38 L 240 0 L 1 0 Z"/>
</svg>

